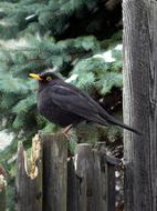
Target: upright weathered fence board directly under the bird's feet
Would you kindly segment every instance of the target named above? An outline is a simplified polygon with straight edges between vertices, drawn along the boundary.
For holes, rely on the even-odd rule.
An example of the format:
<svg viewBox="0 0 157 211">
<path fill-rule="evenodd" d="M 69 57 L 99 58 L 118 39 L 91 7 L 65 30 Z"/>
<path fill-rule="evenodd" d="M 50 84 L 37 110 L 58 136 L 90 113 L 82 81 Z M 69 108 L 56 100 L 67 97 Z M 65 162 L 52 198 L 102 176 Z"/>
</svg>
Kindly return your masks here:
<svg viewBox="0 0 157 211">
<path fill-rule="evenodd" d="M 41 135 L 43 143 L 43 210 L 66 211 L 67 140 L 64 134 Z"/>
</svg>

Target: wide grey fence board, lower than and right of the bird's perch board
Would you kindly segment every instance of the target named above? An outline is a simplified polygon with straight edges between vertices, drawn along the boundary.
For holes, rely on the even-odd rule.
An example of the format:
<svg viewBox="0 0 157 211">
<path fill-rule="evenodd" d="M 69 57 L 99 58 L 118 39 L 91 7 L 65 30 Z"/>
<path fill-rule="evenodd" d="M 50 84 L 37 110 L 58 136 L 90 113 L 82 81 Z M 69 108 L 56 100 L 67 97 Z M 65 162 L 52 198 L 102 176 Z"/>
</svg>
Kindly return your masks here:
<svg viewBox="0 0 157 211">
<path fill-rule="evenodd" d="M 76 150 L 78 211 L 103 210 L 100 158 L 90 144 L 78 144 Z"/>
</svg>

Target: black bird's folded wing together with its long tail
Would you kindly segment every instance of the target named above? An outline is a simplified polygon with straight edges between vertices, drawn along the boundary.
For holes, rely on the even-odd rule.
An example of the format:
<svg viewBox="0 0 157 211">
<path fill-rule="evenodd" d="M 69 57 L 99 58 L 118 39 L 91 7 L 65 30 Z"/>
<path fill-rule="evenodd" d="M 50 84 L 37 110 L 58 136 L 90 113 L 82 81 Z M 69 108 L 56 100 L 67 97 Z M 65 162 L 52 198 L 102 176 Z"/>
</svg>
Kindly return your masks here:
<svg viewBox="0 0 157 211">
<path fill-rule="evenodd" d="M 95 123 L 104 125 L 116 124 L 139 134 L 135 129 L 109 115 L 90 96 L 83 93 L 81 90 L 69 83 L 56 83 L 50 87 L 49 91 L 49 94 L 52 96 L 53 103 L 63 110 L 75 113 L 76 115 Z"/>
</svg>

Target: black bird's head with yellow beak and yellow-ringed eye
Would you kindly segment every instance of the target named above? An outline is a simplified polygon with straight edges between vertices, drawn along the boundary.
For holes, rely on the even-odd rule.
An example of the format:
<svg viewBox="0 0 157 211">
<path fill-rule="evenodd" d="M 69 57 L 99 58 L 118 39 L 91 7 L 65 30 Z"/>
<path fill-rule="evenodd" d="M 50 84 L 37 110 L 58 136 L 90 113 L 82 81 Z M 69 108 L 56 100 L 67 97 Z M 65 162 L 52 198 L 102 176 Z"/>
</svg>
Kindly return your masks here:
<svg viewBox="0 0 157 211">
<path fill-rule="evenodd" d="M 30 73 L 29 77 L 35 79 L 36 81 L 39 81 L 39 83 L 44 83 L 44 84 L 50 83 L 51 81 L 53 81 L 55 79 L 60 79 L 53 72 L 44 72 L 41 74 Z"/>
</svg>

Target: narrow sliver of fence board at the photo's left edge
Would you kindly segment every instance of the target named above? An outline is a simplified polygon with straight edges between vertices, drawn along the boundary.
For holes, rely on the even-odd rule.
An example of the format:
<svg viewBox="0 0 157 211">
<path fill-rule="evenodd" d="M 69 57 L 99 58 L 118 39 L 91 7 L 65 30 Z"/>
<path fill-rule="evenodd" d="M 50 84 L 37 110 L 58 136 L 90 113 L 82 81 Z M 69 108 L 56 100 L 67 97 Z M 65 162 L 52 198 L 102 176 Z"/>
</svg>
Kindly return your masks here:
<svg viewBox="0 0 157 211">
<path fill-rule="evenodd" d="M 6 211 L 6 185 L 7 182 L 2 174 L 0 174 L 0 211 Z"/>
</svg>

